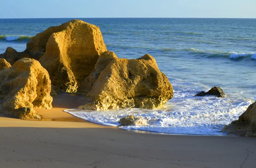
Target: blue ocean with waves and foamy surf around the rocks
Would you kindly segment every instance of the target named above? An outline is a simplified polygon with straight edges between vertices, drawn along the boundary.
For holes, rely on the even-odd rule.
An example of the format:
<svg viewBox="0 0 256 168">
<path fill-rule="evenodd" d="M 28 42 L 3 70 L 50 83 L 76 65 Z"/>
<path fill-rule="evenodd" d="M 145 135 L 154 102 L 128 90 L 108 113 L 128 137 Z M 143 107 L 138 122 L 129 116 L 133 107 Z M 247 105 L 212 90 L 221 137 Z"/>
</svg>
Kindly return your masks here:
<svg viewBox="0 0 256 168">
<path fill-rule="evenodd" d="M 119 58 L 151 54 L 174 88 L 163 109 L 117 109 L 69 113 L 97 124 L 168 134 L 225 135 L 224 125 L 238 119 L 256 100 L 256 19 L 79 18 L 100 27 L 109 51 Z M 49 26 L 71 20 L 0 19 L 0 53 L 23 51 Z M 226 98 L 195 97 L 213 86 Z M 144 126 L 120 126 L 128 114 Z"/>
</svg>

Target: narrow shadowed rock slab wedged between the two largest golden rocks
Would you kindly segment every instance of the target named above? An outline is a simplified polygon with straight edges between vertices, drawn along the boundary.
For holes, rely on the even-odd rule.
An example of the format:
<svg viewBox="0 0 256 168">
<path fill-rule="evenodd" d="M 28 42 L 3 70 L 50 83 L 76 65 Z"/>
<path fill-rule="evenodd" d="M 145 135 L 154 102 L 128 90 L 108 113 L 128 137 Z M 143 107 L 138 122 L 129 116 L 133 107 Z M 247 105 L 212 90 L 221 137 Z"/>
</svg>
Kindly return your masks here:
<svg viewBox="0 0 256 168">
<path fill-rule="evenodd" d="M 105 51 L 104 53 L 102 53 L 99 59 L 97 60 L 93 72 L 85 78 L 85 80 L 81 84 L 79 91 L 84 92 L 84 94 L 87 94 L 91 90 L 95 81 L 98 79 L 99 74 L 106 68 L 106 66 L 112 60 L 116 60 L 117 58 L 118 57 L 116 56 L 116 54 L 112 51 Z"/>
</svg>

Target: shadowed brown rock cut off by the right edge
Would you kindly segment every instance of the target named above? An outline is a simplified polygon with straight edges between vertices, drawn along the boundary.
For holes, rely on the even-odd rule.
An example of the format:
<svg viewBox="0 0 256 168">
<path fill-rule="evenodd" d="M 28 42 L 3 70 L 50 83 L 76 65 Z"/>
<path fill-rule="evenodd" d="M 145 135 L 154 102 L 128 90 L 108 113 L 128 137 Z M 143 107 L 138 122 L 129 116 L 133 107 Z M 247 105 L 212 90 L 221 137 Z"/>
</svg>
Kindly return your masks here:
<svg viewBox="0 0 256 168">
<path fill-rule="evenodd" d="M 247 131 L 245 136 L 256 136 L 256 102 L 241 114 L 238 120 L 226 125 L 222 132 Z"/>
</svg>

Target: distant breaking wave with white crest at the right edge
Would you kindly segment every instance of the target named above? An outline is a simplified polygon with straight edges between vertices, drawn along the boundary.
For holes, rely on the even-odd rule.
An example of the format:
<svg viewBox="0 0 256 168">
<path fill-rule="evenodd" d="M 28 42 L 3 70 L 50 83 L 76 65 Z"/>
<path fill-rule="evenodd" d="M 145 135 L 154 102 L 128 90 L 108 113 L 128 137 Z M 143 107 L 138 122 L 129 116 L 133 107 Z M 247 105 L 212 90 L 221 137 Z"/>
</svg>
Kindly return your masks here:
<svg viewBox="0 0 256 168">
<path fill-rule="evenodd" d="M 217 51 L 217 50 L 200 50 L 195 48 L 185 48 L 183 51 L 190 51 L 193 54 L 199 54 L 202 57 L 229 57 L 230 59 L 239 59 L 243 57 L 248 57 L 250 59 L 256 60 L 256 53 L 248 53 L 248 52 L 225 52 L 225 51 Z"/>
</svg>

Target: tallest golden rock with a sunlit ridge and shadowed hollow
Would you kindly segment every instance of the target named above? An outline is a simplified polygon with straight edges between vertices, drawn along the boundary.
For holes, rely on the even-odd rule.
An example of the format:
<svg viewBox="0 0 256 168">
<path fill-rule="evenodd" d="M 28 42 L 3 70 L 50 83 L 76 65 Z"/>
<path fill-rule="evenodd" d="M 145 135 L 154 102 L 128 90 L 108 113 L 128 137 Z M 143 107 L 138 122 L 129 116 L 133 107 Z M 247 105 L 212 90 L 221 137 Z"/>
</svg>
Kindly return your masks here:
<svg viewBox="0 0 256 168">
<path fill-rule="evenodd" d="M 107 51 L 107 48 L 97 26 L 81 20 L 71 20 L 59 28 L 61 31 L 50 34 L 45 52 L 42 49 L 46 41 L 44 39 L 43 44 L 36 43 L 32 48 L 37 48 L 35 52 L 39 53 L 37 57 L 44 52 L 39 62 L 49 72 L 52 85 L 63 91 L 76 92 L 78 85 L 90 75 L 99 56 Z M 57 31 L 58 26 L 48 29 Z M 44 31 L 47 32 L 47 37 L 48 29 Z M 44 32 L 38 36 L 44 37 Z M 32 40 L 35 38 L 38 37 L 35 36 Z M 34 53 L 30 52 L 30 54 Z"/>
</svg>

